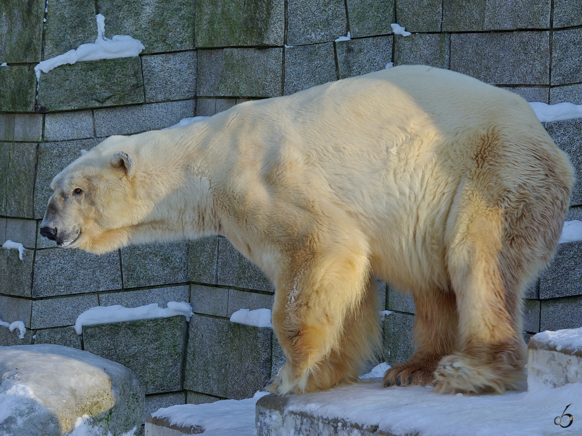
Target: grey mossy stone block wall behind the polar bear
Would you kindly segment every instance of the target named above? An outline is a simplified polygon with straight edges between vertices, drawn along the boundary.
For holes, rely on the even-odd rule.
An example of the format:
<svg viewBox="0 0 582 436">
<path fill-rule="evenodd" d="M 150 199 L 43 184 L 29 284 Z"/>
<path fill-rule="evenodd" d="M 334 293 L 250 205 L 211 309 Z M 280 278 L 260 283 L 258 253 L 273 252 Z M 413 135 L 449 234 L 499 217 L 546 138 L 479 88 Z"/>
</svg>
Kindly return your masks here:
<svg viewBox="0 0 582 436">
<path fill-rule="evenodd" d="M 248 99 L 423 63 L 469 74 L 528 101 L 582 104 L 579 0 L 98 0 L 3 2 L 0 13 L 0 319 L 23 320 L 24 339 L 0 327 L 0 345 L 55 343 L 126 364 L 147 392 L 146 412 L 183 402 L 243 398 L 283 357 L 271 330 L 232 324 L 240 308 L 270 308 L 274 288 L 225 238 L 131 246 L 103 256 L 55 249 L 38 235 L 49 183 L 113 134 L 214 115 Z M 126 34 L 133 58 L 34 66 L 105 36 Z M 394 35 L 391 23 L 413 34 Z M 350 32 L 351 40 L 335 41 Z M 582 180 L 582 120 L 547 123 Z M 568 219 L 582 219 L 582 183 Z M 560 245 L 527 292 L 528 334 L 582 325 L 582 243 Z M 414 304 L 388 288 L 384 357 L 411 353 Z M 188 301 L 196 315 L 84 328 L 94 306 Z"/>
</svg>

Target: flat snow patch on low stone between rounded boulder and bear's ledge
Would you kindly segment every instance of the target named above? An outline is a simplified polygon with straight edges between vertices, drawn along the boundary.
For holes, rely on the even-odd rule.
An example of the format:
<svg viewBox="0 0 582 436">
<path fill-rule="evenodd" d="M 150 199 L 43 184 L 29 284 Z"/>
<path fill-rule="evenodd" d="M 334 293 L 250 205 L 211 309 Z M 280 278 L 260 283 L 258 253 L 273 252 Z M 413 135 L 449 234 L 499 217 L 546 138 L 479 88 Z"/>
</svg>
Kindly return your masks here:
<svg viewBox="0 0 582 436">
<path fill-rule="evenodd" d="M 255 403 L 265 395 L 268 392 L 242 400 L 171 406 L 152 413 L 152 417 L 167 418 L 180 427 L 202 427 L 204 436 L 254 436 Z"/>
</svg>

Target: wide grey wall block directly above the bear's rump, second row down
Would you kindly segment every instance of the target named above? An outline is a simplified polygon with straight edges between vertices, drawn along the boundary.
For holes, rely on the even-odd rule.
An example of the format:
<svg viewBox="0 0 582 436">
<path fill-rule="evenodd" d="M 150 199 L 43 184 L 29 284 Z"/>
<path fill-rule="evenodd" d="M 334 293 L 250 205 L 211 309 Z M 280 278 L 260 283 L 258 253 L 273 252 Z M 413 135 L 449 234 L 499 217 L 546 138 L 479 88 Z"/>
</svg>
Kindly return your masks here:
<svg viewBox="0 0 582 436">
<path fill-rule="evenodd" d="M 546 85 L 549 57 L 546 31 L 450 35 L 450 69 L 487 83 Z"/>
</svg>

